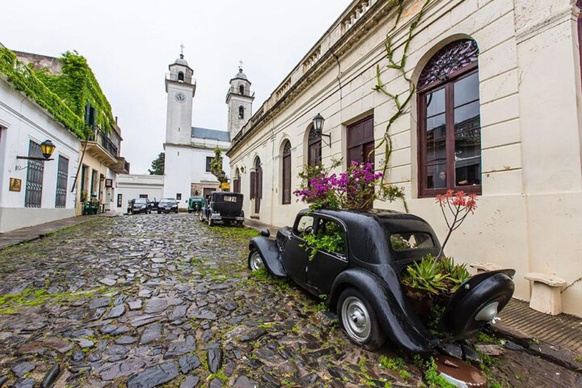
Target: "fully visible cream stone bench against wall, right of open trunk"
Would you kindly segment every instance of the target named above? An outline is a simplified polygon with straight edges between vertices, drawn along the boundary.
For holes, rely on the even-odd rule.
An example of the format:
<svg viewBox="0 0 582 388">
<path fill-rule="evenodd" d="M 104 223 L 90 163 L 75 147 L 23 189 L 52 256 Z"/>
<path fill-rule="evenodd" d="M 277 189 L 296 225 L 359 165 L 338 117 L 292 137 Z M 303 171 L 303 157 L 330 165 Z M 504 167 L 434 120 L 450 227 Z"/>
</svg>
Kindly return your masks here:
<svg viewBox="0 0 582 388">
<path fill-rule="evenodd" d="M 566 280 L 556 275 L 541 272 L 528 272 L 527 280 L 533 282 L 531 287 L 530 308 L 550 315 L 562 313 L 562 295 L 560 291 L 566 286 Z"/>
</svg>

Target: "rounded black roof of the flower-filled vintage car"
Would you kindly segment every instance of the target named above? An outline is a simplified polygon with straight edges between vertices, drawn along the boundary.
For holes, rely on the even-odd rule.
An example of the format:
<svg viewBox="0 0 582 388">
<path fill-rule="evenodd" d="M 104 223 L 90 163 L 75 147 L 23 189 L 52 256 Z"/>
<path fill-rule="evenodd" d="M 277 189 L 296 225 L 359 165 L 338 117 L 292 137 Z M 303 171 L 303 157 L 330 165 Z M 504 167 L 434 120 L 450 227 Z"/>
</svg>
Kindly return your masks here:
<svg viewBox="0 0 582 388">
<path fill-rule="evenodd" d="M 435 242 L 435 248 L 432 248 L 432 250 L 439 248 L 438 239 L 429 223 L 410 213 L 384 209 L 319 209 L 317 211 L 303 209 L 299 212 L 299 214 L 309 213 L 340 220 L 346 226 L 350 254 L 363 261 L 375 263 L 392 261 L 388 248 L 390 238 L 388 234 L 392 232 L 428 233 Z M 352 242 L 350 244 L 350 241 L 356 241 L 356 239 L 357 243 Z M 420 250 L 418 253 L 421 253 Z M 411 254 L 416 254 L 416 252 L 411 252 Z"/>
</svg>

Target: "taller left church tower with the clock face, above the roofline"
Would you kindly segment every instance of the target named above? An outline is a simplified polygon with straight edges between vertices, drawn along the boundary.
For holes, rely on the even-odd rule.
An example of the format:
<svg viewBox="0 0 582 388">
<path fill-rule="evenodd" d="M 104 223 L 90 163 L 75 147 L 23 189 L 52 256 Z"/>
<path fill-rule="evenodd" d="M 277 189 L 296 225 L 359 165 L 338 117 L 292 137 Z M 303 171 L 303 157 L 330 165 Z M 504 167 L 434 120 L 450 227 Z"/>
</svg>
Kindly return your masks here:
<svg viewBox="0 0 582 388">
<path fill-rule="evenodd" d="M 184 59 L 184 54 L 168 66 L 166 74 L 166 93 L 168 111 L 166 112 L 166 143 L 164 145 L 190 145 L 192 129 L 192 98 L 196 92 L 193 70 Z"/>
</svg>

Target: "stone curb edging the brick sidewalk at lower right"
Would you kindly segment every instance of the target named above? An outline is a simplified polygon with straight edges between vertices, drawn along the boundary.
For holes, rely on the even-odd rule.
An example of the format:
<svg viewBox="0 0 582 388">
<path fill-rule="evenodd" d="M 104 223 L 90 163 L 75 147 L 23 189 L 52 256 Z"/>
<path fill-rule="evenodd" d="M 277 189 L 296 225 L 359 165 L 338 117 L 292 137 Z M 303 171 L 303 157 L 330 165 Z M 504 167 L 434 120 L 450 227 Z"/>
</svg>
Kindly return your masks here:
<svg viewBox="0 0 582 388">
<path fill-rule="evenodd" d="M 521 348 L 516 350 L 526 351 L 528 354 L 541 357 L 546 361 L 558 364 L 571 371 L 582 372 L 582 363 L 574 361 L 574 358 L 581 356 L 570 349 L 555 346 L 545 341 L 535 343 L 527 334 L 509 329 L 505 326 L 492 325 L 491 331 L 499 334 L 499 336 L 510 339 Z M 508 347 L 507 345 L 505 347 Z"/>
</svg>

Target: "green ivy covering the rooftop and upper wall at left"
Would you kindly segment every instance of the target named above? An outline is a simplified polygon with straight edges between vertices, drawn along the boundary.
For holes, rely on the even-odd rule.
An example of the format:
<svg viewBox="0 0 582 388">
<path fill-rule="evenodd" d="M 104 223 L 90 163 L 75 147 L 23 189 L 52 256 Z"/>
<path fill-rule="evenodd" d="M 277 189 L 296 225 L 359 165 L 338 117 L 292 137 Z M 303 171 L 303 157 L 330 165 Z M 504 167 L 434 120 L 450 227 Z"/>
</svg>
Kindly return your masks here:
<svg viewBox="0 0 582 388">
<path fill-rule="evenodd" d="M 0 74 L 12 86 L 24 92 L 77 137 L 87 138 L 87 102 L 95 109 L 95 124 L 109 133 L 115 125 L 111 105 L 103 94 L 87 60 L 77 52 L 65 52 L 58 58 L 61 72 L 50 74 L 47 69 L 34 69 L 16 58 L 7 48 L 0 47 Z"/>
</svg>

